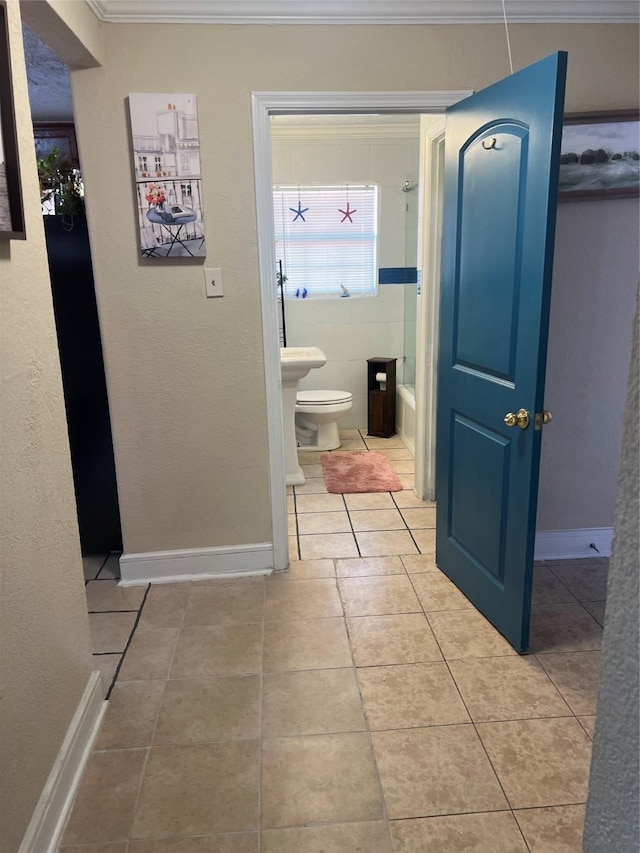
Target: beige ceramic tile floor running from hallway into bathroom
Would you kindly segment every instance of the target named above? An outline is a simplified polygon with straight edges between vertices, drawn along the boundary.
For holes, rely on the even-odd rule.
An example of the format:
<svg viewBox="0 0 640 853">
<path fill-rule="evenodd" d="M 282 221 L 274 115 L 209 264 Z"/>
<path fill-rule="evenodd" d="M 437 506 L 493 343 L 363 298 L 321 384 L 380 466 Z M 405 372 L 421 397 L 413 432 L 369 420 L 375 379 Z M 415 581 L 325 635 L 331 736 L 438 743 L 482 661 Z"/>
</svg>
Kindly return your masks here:
<svg viewBox="0 0 640 853">
<path fill-rule="evenodd" d="M 536 567 L 520 656 L 436 567 L 412 491 L 290 491 L 286 575 L 88 584 L 100 649 L 137 624 L 61 849 L 577 853 L 607 560 Z"/>
</svg>

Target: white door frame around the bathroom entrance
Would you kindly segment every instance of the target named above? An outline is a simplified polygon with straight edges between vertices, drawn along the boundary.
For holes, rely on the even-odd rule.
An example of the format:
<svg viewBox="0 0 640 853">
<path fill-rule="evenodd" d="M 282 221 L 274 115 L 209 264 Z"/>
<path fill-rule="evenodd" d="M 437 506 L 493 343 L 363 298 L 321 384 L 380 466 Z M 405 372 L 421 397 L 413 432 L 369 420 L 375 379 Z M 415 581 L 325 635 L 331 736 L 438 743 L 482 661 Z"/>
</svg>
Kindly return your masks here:
<svg viewBox="0 0 640 853">
<path fill-rule="evenodd" d="M 448 106 L 468 97 L 470 91 L 445 92 L 253 92 L 251 112 L 253 118 L 253 157 L 256 191 L 256 218 L 258 231 L 258 264 L 260 268 L 260 296 L 262 303 L 262 347 L 264 354 L 265 392 L 267 404 L 267 437 L 269 449 L 269 480 L 271 495 L 271 522 L 273 535 L 274 569 L 286 569 L 289 564 L 287 537 L 286 478 L 284 463 L 284 426 L 282 417 L 282 381 L 280 376 L 280 348 L 276 304 L 273 230 L 273 172 L 271 160 L 270 116 L 308 113 L 444 113 Z M 434 143 L 437 149 L 437 144 Z M 433 156 L 434 161 L 437 155 Z M 434 211 L 434 217 L 435 217 Z M 431 222 L 434 219 L 430 220 Z M 432 229 L 433 230 L 433 229 Z M 431 243 L 431 240 L 429 241 Z M 438 242 L 439 245 L 439 242 Z M 439 284 L 438 284 L 439 286 Z M 429 287 L 431 290 L 431 287 Z M 422 300 L 424 310 L 427 300 Z M 437 320 L 432 318 L 436 323 Z M 426 323 L 422 322 L 425 330 Z M 423 338 L 424 341 L 424 338 Z M 430 339 L 433 345 L 433 339 Z M 421 355 L 417 361 L 424 361 Z M 421 370 L 425 388 L 435 389 L 433 366 L 429 359 L 427 368 Z M 416 377 L 417 379 L 417 377 Z M 427 405 L 426 400 L 424 401 Z M 435 405 L 430 398 L 427 408 Z M 425 410 L 426 411 L 426 410 Z M 416 411 L 416 418 L 418 412 Z M 424 443 L 424 431 L 421 440 Z M 418 434 L 416 435 L 416 438 Z M 417 442 L 416 442 L 417 443 Z M 427 471 L 429 454 L 421 451 L 421 465 Z M 418 460 L 416 460 L 416 467 Z M 425 486 L 421 472 L 422 488 Z M 427 486 L 428 491 L 428 486 Z"/>
</svg>

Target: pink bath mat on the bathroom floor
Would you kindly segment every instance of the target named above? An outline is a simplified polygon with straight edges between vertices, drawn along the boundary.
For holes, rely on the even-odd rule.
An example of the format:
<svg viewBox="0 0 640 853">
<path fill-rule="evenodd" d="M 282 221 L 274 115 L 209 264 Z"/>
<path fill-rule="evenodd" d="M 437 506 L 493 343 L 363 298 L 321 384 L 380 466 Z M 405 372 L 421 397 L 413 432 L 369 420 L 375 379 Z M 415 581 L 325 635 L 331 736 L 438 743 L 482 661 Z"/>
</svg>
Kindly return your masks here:
<svg viewBox="0 0 640 853">
<path fill-rule="evenodd" d="M 327 491 L 333 494 L 402 491 L 389 460 L 376 450 L 323 453 L 320 461 Z"/>
</svg>

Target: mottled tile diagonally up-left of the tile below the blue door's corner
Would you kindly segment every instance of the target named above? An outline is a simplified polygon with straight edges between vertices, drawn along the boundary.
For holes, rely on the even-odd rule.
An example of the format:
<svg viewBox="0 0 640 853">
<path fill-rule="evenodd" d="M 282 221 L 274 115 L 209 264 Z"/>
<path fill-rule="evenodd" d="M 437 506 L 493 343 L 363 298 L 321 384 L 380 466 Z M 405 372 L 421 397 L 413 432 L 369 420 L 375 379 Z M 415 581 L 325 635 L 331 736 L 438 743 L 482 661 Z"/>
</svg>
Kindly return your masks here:
<svg viewBox="0 0 640 853">
<path fill-rule="evenodd" d="M 356 666 L 440 661 L 442 655 L 424 614 L 347 619 Z"/>
</svg>

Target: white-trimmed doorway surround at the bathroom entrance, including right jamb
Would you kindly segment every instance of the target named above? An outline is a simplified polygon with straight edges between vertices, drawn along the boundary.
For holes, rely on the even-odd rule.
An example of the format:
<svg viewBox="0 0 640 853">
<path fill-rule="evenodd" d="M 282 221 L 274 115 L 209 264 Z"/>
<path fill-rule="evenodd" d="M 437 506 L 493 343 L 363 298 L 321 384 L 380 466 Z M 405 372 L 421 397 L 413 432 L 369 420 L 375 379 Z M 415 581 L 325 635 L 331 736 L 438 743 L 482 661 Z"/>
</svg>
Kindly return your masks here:
<svg viewBox="0 0 640 853">
<path fill-rule="evenodd" d="M 267 398 L 267 429 L 269 446 L 269 473 L 271 489 L 271 511 L 274 548 L 274 568 L 284 569 L 288 565 L 287 550 L 287 513 L 286 513 L 286 489 L 285 489 L 285 462 L 284 446 L 282 436 L 284 433 L 282 416 L 281 380 L 280 380 L 280 352 L 278 339 L 278 306 L 276 288 L 273 286 L 274 270 L 276 269 L 276 258 L 274 252 L 273 231 L 273 173 L 272 173 L 272 151 L 271 151 L 271 125 L 270 118 L 273 115 L 287 114 L 323 114 L 323 113 L 413 113 L 434 114 L 441 116 L 446 108 L 457 101 L 467 97 L 469 91 L 451 92 L 318 92 L 318 93 L 295 93 L 277 92 L 260 93 L 252 95 L 252 113 L 254 128 L 254 166 L 256 184 L 256 209 L 258 223 L 258 257 L 260 267 L 260 288 L 262 302 L 262 325 L 263 325 L 263 353 L 265 364 L 265 385 Z M 436 131 L 437 128 L 437 131 Z M 421 131 L 422 132 L 422 131 Z M 425 130 L 426 132 L 426 130 Z M 436 179 L 441 180 L 441 151 L 444 141 L 444 120 L 441 119 L 429 131 L 431 144 L 429 155 L 425 160 L 425 167 L 429 174 L 435 174 Z M 424 182 L 423 182 L 424 183 Z M 419 229 L 423 233 L 429 228 L 429 237 L 423 241 L 422 252 L 437 246 L 439 234 L 432 233 L 436 228 L 437 199 L 435 194 L 433 210 L 424 215 L 424 221 Z M 423 209 L 421 207 L 421 209 Z M 429 275 L 437 274 L 437 264 Z M 423 282 L 423 287 L 426 282 Z M 431 287 L 423 290 L 429 293 Z M 425 311 L 433 309 L 433 302 L 437 305 L 437 297 L 429 296 L 421 302 L 421 310 L 418 312 L 418 340 L 424 340 L 424 330 L 427 321 L 421 319 Z M 437 320 L 431 318 L 431 323 L 437 328 Z M 433 345 L 434 338 L 430 338 Z M 417 391 L 417 396 L 422 399 L 421 406 L 424 412 L 416 412 L 419 422 L 427 417 L 427 412 L 432 411 L 435 417 L 435 352 L 423 355 L 417 359 L 420 370 L 416 370 L 416 386 L 424 383 L 425 393 Z M 428 393 L 427 393 L 428 392 Z M 427 404 L 428 400 L 428 404 Z M 435 421 L 434 421 L 435 423 Z M 418 446 L 424 445 L 424 432 L 427 429 L 426 422 L 421 427 L 416 427 L 416 486 L 425 493 L 427 478 L 430 476 L 425 467 L 424 447 L 420 448 L 418 457 Z M 431 466 L 431 471 L 432 471 Z M 421 470 L 419 474 L 418 471 Z M 420 492 L 418 492 L 420 494 Z"/>
</svg>

